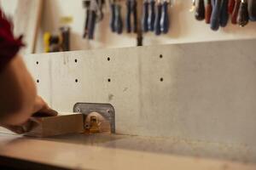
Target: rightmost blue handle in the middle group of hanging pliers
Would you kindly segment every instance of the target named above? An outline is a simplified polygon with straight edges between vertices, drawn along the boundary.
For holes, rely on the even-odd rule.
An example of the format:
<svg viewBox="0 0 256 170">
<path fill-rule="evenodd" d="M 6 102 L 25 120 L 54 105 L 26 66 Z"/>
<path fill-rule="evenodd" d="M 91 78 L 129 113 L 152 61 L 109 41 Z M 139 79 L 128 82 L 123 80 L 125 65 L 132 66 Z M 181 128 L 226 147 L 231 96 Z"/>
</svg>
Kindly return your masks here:
<svg viewBox="0 0 256 170">
<path fill-rule="evenodd" d="M 162 3 L 162 13 L 160 19 L 160 31 L 166 34 L 169 31 L 169 14 L 168 14 L 168 2 L 165 0 Z"/>
</svg>

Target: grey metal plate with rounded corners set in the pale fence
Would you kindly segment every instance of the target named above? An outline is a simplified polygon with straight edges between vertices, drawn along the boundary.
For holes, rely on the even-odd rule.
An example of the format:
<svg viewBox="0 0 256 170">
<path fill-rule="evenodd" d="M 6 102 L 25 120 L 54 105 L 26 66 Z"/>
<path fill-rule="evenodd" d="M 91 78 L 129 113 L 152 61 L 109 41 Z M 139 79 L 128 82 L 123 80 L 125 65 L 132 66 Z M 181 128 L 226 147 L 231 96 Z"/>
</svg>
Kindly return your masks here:
<svg viewBox="0 0 256 170">
<path fill-rule="evenodd" d="M 115 133 L 115 112 L 113 105 L 110 104 L 94 104 L 94 103 L 76 103 L 73 106 L 73 112 L 84 114 L 84 120 L 90 113 L 96 112 L 102 115 L 110 122 L 111 133 Z"/>
</svg>

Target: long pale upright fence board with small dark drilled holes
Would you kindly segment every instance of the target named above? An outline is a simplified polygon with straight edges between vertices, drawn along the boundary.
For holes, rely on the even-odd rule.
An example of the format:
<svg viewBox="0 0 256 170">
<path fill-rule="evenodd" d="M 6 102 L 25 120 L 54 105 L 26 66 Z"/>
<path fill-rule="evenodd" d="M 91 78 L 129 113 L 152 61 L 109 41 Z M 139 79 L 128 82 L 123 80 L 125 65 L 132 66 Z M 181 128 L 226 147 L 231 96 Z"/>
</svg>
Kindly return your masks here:
<svg viewBox="0 0 256 170">
<path fill-rule="evenodd" d="M 255 40 L 31 54 L 54 109 L 110 103 L 116 133 L 243 145 L 256 158 Z"/>
</svg>

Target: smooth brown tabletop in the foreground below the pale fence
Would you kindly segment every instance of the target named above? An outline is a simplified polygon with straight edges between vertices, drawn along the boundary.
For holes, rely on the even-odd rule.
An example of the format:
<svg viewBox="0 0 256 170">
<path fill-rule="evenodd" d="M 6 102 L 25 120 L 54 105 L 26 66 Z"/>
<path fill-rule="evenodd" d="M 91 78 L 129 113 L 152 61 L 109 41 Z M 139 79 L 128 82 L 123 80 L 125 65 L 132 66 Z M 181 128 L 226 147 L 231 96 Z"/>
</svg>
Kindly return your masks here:
<svg viewBox="0 0 256 170">
<path fill-rule="evenodd" d="M 225 153 L 220 150 L 211 155 L 209 147 L 222 148 Z M 225 147 L 113 134 L 35 139 L 0 133 L 0 164 L 14 162 L 12 165 L 37 169 L 256 169 L 253 160 L 243 160 L 242 153 L 230 157 L 228 152 L 235 149 Z"/>
</svg>

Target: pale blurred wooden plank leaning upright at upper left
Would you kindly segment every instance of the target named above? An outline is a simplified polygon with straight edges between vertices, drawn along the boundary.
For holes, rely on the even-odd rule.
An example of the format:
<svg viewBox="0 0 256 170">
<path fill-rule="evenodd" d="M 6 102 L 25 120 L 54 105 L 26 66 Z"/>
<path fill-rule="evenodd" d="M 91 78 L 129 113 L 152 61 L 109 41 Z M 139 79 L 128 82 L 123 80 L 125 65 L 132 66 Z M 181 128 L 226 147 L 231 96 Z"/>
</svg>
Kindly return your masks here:
<svg viewBox="0 0 256 170">
<path fill-rule="evenodd" d="M 18 1 L 15 11 L 15 35 L 24 35 L 26 48 L 20 54 L 33 54 L 36 49 L 39 23 L 43 8 L 43 0 Z"/>
</svg>

